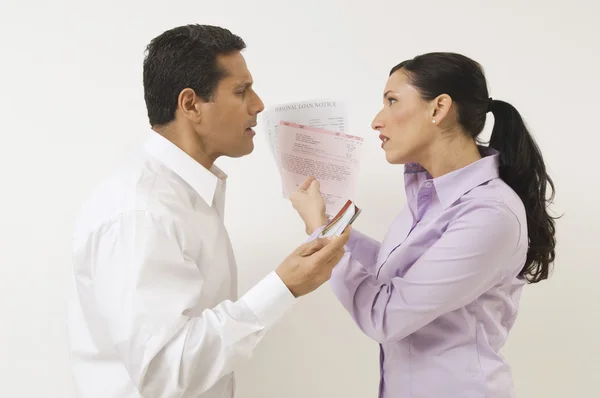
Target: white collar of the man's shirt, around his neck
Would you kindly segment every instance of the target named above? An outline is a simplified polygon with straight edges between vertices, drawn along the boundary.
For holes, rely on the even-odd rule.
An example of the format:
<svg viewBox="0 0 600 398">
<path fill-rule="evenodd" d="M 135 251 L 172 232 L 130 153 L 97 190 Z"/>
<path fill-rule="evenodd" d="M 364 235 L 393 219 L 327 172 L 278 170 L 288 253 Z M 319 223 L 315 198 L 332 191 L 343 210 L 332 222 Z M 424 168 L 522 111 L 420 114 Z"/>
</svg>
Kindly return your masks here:
<svg viewBox="0 0 600 398">
<path fill-rule="evenodd" d="M 154 130 L 151 130 L 150 137 L 144 144 L 144 150 L 179 175 L 208 205 L 213 202 L 219 180 L 227 179 L 227 174 L 217 166 L 213 165 L 210 170 L 206 169 Z"/>
</svg>

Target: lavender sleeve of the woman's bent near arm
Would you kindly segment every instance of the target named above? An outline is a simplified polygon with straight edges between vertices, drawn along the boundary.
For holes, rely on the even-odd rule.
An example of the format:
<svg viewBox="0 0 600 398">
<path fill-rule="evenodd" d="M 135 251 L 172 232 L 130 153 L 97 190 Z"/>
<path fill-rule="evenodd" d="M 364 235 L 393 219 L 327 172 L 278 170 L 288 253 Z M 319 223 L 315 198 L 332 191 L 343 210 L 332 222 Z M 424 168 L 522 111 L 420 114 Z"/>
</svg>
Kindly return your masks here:
<svg viewBox="0 0 600 398">
<path fill-rule="evenodd" d="M 358 327 L 379 343 L 400 340 L 463 307 L 525 261 L 521 226 L 503 204 L 471 206 L 402 277 L 376 279 L 347 253 L 331 286 Z M 390 258 L 392 260 L 392 258 Z M 393 267 L 393 263 L 386 267 Z"/>
</svg>

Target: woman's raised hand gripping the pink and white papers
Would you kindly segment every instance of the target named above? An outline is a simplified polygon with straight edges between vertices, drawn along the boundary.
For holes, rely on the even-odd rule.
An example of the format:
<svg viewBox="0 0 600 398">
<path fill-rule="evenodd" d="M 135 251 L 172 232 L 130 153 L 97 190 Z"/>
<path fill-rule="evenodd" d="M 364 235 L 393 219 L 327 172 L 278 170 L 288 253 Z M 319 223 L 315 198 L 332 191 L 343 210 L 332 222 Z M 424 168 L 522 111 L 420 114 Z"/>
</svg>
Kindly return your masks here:
<svg viewBox="0 0 600 398">
<path fill-rule="evenodd" d="M 308 177 L 300 184 L 298 190 L 290 195 L 292 206 L 304 221 L 308 235 L 329 221 L 325 214 L 325 199 L 319 188 L 319 181 Z"/>
</svg>

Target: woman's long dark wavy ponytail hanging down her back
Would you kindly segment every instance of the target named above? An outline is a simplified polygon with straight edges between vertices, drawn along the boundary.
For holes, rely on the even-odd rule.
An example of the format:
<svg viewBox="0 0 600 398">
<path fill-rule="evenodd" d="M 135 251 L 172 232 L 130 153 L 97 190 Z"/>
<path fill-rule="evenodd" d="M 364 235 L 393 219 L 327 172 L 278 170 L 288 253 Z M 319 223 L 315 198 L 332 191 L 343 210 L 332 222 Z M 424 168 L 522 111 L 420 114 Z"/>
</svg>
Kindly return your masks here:
<svg viewBox="0 0 600 398">
<path fill-rule="evenodd" d="M 489 110 L 495 119 L 489 146 L 500 152 L 500 178 L 519 195 L 527 214 L 529 250 L 519 275 L 537 283 L 548 278 L 555 258 L 554 218 L 547 212 L 547 204 L 554 199 L 554 183 L 519 112 L 498 100 L 490 100 Z"/>
</svg>

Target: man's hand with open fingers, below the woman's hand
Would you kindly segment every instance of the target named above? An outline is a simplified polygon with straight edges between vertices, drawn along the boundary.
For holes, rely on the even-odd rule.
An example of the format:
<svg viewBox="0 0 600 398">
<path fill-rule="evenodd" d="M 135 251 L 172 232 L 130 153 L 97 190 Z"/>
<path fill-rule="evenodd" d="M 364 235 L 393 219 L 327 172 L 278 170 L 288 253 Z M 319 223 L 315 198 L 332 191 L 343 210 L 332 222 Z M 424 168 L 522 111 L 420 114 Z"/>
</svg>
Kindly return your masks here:
<svg viewBox="0 0 600 398">
<path fill-rule="evenodd" d="M 317 289 L 331 277 L 333 267 L 344 255 L 344 245 L 350 239 L 348 226 L 333 239 L 319 238 L 294 250 L 275 270 L 295 297 Z"/>
</svg>

